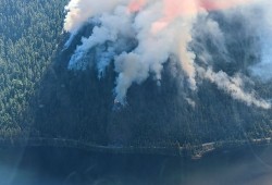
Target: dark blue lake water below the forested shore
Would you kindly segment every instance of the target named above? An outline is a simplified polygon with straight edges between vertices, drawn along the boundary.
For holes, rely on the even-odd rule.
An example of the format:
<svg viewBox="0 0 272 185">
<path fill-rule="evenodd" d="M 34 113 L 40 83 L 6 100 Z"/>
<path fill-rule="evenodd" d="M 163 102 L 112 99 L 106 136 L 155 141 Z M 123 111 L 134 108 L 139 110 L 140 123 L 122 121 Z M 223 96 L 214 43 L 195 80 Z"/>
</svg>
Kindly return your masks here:
<svg viewBox="0 0 272 185">
<path fill-rule="evenodd" d="M 0 185 L 271 185 L 272 148 L 217 151 L 200 160 L 64 148 L 0 150 Z"/>
</svg>

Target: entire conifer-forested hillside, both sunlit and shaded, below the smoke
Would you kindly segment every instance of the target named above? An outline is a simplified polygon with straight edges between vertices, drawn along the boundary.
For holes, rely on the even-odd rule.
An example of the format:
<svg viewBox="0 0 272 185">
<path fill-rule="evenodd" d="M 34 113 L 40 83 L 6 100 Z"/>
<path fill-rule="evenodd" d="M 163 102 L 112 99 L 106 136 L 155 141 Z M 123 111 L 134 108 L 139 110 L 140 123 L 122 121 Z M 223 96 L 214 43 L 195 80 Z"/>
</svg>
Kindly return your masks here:
<svg viewBox="0 0 272 185">
<path fill-rule="evenodd" d="M 65 0 L 0 1 L 1 137 L 73 138 L 107 146 L 175 146 L 271 136 L 271 110 L 234 100 L 209 82 L 202 82 L 195 92 L 186 84 L 181 90 L 171 74 L 171 62 L 164 65 L 160 86 L 150 77 L 128 89 L 126 106 L 114 104 L 113 63 L 103 78 L 97 77 L 94 66 L 83 72 L 67 70 L 81 39 L 75 38 L 63 50 L 69 38 L 62 33 L 65 4 Z M 222 23 L 222 27 L 234 27 L 231 24 L 238 23 Z M 243 27 L 236 27 L 233 36 L 243 35 Z M 90 28 L 85 26 L 81 34 Z M 233 58 L 256 62 L 258 57 L 247 53 L 252 39 L 256 38 L 245 37 L 230 44 Z M 220 67 L 234 73 L 237 65 L 247 64 Z M 256 78 L 255 88 L 261 97 L 271 97 L 271 83 Z"/>
</svg>

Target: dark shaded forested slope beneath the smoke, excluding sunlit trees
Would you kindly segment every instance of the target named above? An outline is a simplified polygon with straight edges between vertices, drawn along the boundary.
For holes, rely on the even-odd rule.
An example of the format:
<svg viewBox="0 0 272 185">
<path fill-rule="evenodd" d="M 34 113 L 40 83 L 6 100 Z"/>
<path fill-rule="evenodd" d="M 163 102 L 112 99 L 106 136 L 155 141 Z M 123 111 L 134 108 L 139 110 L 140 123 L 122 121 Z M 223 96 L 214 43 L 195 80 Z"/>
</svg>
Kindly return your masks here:
<svg viewBox="0 0 272 185">
<path fill-rule="evenodd" d="M 220 15 L 213 16 L 220 18 Z M 237 36 L 243 35 L 244 27 L 234 24 L 243 25 L 242 20 L 221 22 L 222 29 L 237 39 L 226 44 L 234 62 L 221 63 L 224 55 L 214 49 L 213 38 L 201 40 L 210 45 L 215 71 L 230 75 L 243 71 L 245 76 L 250 75 L 248 66 L 259 60 L 258 52 L 252 52 L 259 44 L 258 37 Z M 231 27 L 235 28 L 230 32 Z M 87 37 L 91 28 L 91 25 L 85 26 L 78 35 Z M 184 72 L 172 60 L 163 65 L 159 85 L 152 76 L 140 85 L 133 84 L 126 103 L 121 104 L 114 101 L 112 91 L 118 76 L 113 61 L 99 78 L 96 63 L 91 62 L 97 51 L 90 50 L 83 59 L 88 62 L 86 70 L 67 70 L 69 60 L 79 42 L 81 37 L 75 37 L 69 48 L 60 49 L 58 60 L 41 83 L 35 130 L 42 137 L 73 138 L 99 145 L 173 146 L 271 135 L 270 110 L 235 100 L 205 79 L 199 79 L 198 89 L 191 91 L 183 77 Z M 199 50 L 197 45 L 193 47 Z M 198 55 L 196 60 L 200 60 Z M 269 98 L 271 85 L 258 78 L 254 81 L 255 84 L 250 81 L 245 88 L 258 89 L 261 97 Z"/>
</svg>

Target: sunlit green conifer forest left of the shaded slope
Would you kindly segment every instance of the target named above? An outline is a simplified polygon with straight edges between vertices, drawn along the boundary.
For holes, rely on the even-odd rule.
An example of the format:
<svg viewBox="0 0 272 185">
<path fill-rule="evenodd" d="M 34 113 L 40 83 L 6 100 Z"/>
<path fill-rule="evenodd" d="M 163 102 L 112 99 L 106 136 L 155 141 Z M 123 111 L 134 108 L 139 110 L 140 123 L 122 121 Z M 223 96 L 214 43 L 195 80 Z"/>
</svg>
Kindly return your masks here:
<svg viewBox="0 0 272 185">
<path fill-rule="evenodd" d="M 0 1 L 0 133 L 20 135 L 33 121 L 29 104 L 53 61 L 65 1 Z"/>
</svg>

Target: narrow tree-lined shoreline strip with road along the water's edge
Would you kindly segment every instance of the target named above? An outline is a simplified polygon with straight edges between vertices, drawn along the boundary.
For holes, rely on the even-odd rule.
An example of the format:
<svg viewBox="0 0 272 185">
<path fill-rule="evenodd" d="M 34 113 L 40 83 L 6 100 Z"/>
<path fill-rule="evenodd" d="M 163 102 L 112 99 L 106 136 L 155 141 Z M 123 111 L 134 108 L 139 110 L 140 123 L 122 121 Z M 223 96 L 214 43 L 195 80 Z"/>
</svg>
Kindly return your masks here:
<svg viewBox="0 0 272 185">
<path fill-rule="evenodd" d="M 1 138 L 0 148 L 23 148 L 23 147 L 59 147 L 75 148 L 91 152 L 113 153 L 113 155 L 159 155 L 181 158 L 201 159 L 203 156 L 215 150 L 232 150 L 245 147 L 271 146 L 271 138 L 259 138 L 251 140 L 218 141 L 206 143 L 189 147 L 116 147 L 100 146 L 65 138 Z"/>
</svg>

